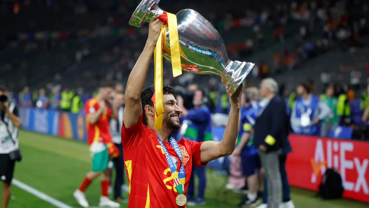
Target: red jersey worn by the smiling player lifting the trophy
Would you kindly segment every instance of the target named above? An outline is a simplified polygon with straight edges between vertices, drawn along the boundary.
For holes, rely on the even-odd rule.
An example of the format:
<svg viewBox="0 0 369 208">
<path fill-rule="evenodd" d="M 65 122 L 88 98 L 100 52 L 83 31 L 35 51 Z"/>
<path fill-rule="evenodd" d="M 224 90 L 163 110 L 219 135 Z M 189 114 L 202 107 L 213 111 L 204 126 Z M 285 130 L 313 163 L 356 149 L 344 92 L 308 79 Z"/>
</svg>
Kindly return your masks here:
<svg viewBox="0 0 369 208">
<path fill-rule="evenodd" d="M 185 208 L 176 204 L 178 195 L 173 184 L 172 173 L 164 151 L 155 132 L 142 124 L 142 115 L 137 123 L 122 127 L 124 165 L 129 182 L 128 208 Z M 177 142 L 182 152 L 185 172 L 184 194 L 190 180 L 192 166 L 205 166 L 200 160 L 202 142 L 185 140 Z M 169 142 L 163 142 L 179 171 L 181 161 Z"/>
</svg>

